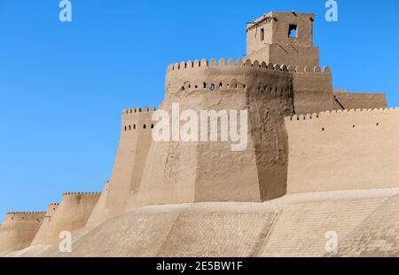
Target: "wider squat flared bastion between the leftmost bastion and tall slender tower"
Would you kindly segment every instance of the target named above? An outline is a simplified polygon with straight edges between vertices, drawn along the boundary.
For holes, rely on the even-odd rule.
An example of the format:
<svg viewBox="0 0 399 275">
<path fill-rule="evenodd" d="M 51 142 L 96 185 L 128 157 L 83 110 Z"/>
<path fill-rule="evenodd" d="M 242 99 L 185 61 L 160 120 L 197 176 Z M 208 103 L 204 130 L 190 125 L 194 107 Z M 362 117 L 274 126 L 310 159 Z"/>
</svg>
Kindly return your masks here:
<svg viewBox="0 0 399 275">
<path fill-rule="evenodd" d="M 100 193 L 65 193 L 59 207 L 37 232 L 31 246 L 56 244 L 60 232 L 83 228 L 99 197 Z"/>
</svg>

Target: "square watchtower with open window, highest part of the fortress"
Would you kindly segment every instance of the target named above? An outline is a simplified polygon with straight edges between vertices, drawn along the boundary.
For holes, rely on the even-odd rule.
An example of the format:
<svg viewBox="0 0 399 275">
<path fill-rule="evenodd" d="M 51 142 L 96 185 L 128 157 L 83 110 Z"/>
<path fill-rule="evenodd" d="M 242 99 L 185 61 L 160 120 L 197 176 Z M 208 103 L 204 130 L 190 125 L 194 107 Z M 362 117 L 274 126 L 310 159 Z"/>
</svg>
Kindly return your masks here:
<svg viewBox="0 0 399 275">
<path fill-rule="evenodd" d="M 246 57 L 274 64 L 318 66 L 314 19 L 311 13 L 270 12 L 253 20 L 246 26 Z"/>
</svg>

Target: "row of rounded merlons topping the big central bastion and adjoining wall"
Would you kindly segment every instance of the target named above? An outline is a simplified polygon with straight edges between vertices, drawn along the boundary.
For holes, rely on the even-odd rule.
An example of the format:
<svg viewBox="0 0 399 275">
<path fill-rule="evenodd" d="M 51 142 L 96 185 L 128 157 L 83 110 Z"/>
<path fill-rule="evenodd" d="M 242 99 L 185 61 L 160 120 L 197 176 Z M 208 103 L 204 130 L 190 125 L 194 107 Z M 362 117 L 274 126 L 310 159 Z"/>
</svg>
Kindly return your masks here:
<svg viewBox="0 0 399 275">
<path fill-rule="evenodd" d="M 201 59 L 201 60 L 195 60 L 192 62 L 192 60 L 188 61 L 182 61 L 180 63 L 175 63 L 171 64 L 167 68 L 167 73 L 175 72 L 175 71 L 180 71 L 180 70 L 187 70 L 187 69 L 199 69 L 199 68 L 204 68 L 204 67 L 253 67 L 253 68 L 262 68 L 262 69 L 268 69 L 268 70 L 273 70 L 273 71 L 280 71 L 280 72 L 291 72 L 291 73 L 298 73 L 298 74 L 329 74 L 331 73 L 331 70 L 329 67 L 324 67 L 323 69 L 319 66 L 293 66 L 293 65 L 280 65 L 280 64 L 273 64 L 273 63 L 266 63 L 264 61 L 260 62 L 258 60 L 254 60 L 254 62 L 251 59 L 237 59 L 234 61 L 234 59 L 228 59 L 226 62 L 226 59 L 219 59 L 219 61 L 216 61 L 216 59 L 210 59 L 209 61 L 207 59 Z"/>
</svg>

